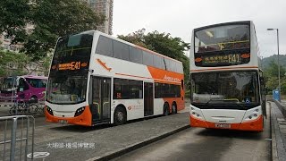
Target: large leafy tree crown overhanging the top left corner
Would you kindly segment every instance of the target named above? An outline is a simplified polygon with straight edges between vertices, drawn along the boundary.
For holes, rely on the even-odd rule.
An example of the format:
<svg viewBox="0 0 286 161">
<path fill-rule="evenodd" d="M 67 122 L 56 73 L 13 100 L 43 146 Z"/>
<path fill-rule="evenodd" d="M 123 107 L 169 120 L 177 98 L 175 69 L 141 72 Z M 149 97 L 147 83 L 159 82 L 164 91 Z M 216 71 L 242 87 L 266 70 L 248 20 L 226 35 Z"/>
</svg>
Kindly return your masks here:
<svg viewBox="0 0 286 161">
<path fill-rule="evenodd" d="M 13 43 L 21 42 L 21 52 L 39 60 L 55 47 L 60 36 L 83 30 L 96 30 L 105 21 L 89 5 L 81 0 L 2 0 L 0 3 L 0 29 L 13 38 Z M 34 25 L 34 30 L 24 27 Z"/>
</svg>

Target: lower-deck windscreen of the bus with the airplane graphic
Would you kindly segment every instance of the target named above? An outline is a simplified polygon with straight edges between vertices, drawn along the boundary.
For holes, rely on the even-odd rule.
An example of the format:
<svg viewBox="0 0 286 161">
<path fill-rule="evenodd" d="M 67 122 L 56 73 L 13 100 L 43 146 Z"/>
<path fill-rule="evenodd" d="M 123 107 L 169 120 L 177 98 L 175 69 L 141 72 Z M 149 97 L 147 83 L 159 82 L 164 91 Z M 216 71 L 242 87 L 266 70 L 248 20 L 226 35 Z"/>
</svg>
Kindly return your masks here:
<svg viewBox="0 0 286 161">
<path fill-rule="evenodd" d="M 49 78 L 46 101 L 55 104 L 75 104 L 85 101 L 87 77 L 57 76 Z"/>
</svg>

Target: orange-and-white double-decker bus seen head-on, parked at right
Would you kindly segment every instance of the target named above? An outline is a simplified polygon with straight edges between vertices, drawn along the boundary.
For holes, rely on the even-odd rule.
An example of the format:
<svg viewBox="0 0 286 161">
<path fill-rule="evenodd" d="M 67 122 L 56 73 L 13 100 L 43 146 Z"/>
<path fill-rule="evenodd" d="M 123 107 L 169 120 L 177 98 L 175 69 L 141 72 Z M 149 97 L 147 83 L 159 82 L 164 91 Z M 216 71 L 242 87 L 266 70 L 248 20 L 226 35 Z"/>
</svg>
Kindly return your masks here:
<svg viewBox="0 0 286 161">
<path fill-rule="evenodd" d="M 264 81 L 252 21 L 214 24 L 192 33 L 190 126 L 263 131 Z"/>
</svg>

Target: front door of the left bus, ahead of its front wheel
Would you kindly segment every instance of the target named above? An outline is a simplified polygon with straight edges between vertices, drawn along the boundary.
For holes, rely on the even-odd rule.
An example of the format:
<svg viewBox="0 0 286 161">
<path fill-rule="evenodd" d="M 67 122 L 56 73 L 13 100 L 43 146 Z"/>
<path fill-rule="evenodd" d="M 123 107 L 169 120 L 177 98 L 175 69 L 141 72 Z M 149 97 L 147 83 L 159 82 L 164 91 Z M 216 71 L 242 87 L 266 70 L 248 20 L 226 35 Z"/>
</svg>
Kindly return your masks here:
<svg viewBox="0 0 286 161">
<path fill-rule="evenodd" d="M 111 79 L 104 77 L 91 77 L 90 112 L 93 123 L 110 122 Z"/>
</svg>

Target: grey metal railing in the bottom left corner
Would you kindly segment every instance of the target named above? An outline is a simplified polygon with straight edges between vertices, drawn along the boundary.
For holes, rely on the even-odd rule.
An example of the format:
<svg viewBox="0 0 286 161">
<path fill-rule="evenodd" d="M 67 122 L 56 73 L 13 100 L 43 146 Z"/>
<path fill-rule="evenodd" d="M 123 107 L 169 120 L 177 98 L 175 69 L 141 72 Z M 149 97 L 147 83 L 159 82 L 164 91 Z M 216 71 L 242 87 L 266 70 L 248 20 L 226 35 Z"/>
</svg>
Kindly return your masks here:
<svg viewBox="0 0 286 161">
<path fill-rule="evenodd" d="M 3 116 L 0 117 L 0 125 L 0 160 L 27 161 L 28 153 L 31 153 L 31 160 L 33 160 L 34 117 L 31 115 Z"/>
</svg>

